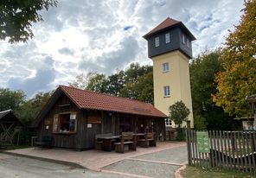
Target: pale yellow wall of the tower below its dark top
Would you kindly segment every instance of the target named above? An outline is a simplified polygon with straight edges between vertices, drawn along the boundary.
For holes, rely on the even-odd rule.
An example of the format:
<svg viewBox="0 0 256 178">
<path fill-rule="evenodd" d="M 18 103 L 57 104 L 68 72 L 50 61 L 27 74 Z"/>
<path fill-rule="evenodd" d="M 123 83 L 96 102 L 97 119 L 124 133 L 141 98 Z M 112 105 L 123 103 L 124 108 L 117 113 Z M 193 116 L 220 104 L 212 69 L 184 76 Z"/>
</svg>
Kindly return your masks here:
<svg viewBox="0 0 256 178">
<path fill-rule="evenodd" d="M 157 55 L 152 58 L 154 73 L 154 105 L 169 115 L 169 107 L 182 100 L 189 108 L 190 126 L 194 127 L 189 79 L 189 59 L 180 51 Z M 163 63 L 169 63 L 169 72 L 163 72 Z M 170 86 L 170 97 L 163 96 L 163 86 Z M 174 126 L 174 124 L 172 124 Z M 183 126 L 186 124 L 184 123 Z"/>
</svg>

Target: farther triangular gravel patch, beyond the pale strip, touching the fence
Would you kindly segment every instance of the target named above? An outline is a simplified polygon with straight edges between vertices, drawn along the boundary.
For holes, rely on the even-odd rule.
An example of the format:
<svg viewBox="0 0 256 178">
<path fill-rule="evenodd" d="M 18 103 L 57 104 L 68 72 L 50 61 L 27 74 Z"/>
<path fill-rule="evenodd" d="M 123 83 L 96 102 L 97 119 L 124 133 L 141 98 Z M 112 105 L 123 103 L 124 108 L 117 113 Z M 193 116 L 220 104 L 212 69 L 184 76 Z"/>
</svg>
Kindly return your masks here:
<svg viewBox="0 0 256 178">
<path fill-rule="evenodd" d="M 187 147 L 182 146 L 174 149 L 167 149 L 159 151 L 156 153 L 146 154 L 143 156 L 136 156 L 134 158 L 159 161 L 159 162 L 174 162 L 174 163 L 184 163 L 188 161 Z"/>
</svg>

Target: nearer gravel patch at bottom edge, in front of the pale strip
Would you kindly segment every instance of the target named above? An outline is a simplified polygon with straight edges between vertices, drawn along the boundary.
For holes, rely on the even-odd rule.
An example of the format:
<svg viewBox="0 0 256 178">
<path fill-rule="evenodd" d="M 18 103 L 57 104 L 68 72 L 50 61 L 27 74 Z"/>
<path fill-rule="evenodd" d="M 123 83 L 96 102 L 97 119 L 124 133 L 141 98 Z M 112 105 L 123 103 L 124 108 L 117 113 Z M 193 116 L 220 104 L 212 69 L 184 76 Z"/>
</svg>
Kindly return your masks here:
<svg viewBox="0 0 256 178">
<path fill-rule="evenodd" d="M 104 169 L 134 175 L 145 175 L 155 178 L 172 178 L 175 177 L 175 170 L 179 166 L 160 164 L 155 162 L 139 162 L 134 160 L 124 160 L 116 162 Z"/>
</svg>

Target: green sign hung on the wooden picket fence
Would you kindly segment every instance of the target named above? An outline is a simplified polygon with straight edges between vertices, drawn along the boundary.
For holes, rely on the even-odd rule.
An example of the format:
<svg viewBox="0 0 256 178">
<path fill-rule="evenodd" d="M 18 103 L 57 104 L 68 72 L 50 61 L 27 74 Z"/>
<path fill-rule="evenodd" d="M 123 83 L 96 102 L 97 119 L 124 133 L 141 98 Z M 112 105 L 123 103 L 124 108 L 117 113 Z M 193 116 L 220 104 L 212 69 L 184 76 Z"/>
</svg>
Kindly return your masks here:
<svg viewBox="0 0 256 178">
<path fill-rule="evenodd" d="M 210 142 L 207 131 L 196 131 L 196 143 L 198 152 L 210 152 Z"/>
</svg>

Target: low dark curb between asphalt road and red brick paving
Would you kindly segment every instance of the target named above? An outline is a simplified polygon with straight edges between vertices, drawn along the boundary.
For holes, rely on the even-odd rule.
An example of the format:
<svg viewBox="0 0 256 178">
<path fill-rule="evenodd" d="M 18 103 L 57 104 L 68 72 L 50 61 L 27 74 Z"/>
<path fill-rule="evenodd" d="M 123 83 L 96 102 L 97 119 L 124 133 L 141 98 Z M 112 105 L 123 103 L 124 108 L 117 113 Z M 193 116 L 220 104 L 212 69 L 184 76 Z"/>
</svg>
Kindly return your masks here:
<svg viewBox="0 0 256 178">
<path fill-rule="evenodd" d="M 71 166 L 71 167 L 74 167 L 74 168 L 86 168 L 86 167 L 80 165 L 77 162 L 67 162 L 67 161 L 54 160 L 54 159 L 45 158 L 45 157 L 27 156 L 27 155 L 22 155 L 22 154 L 18 154 L 18 153 L 7 152 L 7 151 L 1 151 L 1 153 L 6 154 L 6 155 L 11 155 L 11 156 L 27 157 L 27 158 L 40 160 L 40 161 L 45 161 L 45 162 L 54 162 L 54 163 L 58 163 L 58 164 L 62 164 L 62 165 Z M 89 168 L 86 168 L 86 169 L 89 169 Z"/>
</svg>

